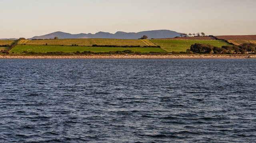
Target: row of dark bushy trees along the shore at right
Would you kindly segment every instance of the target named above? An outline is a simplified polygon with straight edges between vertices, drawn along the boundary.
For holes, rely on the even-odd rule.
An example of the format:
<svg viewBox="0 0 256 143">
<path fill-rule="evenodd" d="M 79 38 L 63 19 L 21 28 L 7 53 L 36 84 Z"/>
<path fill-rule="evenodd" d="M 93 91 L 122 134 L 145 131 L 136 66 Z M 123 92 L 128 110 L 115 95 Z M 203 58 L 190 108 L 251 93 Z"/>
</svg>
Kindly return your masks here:
<svg viewBox="0 0 256 143">
<path fill-rule="evenodd" d="M 194 53 L 207 53 L 207 54 L 248 54 L 253 53 L 256 51 L 256 44 L 252 43 L 245 43 L 241 44 L 240 46 L 222 46 L 215 47 L 210 44 L 194 44 L 191 45 L 190 50 L 188 49 L 187 52 L 192 51 Z"/>
</svg>

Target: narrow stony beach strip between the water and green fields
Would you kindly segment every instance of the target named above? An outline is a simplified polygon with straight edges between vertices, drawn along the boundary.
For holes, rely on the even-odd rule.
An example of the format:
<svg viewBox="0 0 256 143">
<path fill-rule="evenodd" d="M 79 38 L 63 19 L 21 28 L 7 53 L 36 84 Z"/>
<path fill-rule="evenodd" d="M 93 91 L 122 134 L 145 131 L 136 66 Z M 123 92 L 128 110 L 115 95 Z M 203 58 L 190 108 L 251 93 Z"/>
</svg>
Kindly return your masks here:
<svg viewBox="0 0 256 143">
<path fill-rule="evenodd" d="M 72 55 L 22 56 L 0 55 L 0 59 L 256 59 L 254 54 L 244 55 Z"/>
</svg>

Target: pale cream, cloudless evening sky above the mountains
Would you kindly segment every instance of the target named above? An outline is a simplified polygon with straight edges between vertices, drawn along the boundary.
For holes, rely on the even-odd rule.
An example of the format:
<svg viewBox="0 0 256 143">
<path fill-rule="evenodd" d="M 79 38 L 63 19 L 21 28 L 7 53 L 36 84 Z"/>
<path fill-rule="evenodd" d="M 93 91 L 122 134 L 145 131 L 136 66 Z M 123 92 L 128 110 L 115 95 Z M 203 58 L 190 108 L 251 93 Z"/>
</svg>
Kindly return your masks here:
<svg viewBox="0 0 256 143">
<path fill-rule="evenodd" d="M 256 35 L 256 0 L 0 0 L 0 38 L 172 30 Z"/>
</svg>

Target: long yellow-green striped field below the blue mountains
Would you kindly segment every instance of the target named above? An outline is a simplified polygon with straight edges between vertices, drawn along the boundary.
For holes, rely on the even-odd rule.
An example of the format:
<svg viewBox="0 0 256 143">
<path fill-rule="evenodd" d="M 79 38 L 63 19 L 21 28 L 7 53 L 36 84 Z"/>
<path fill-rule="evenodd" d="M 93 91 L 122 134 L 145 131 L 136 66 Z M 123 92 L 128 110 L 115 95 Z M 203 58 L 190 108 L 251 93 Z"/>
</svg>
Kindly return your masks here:
<svg viewBox="0 0 256 143">
<path fill-rule="evenodd" d="M 96 45 L 115 45 L 115 46 L 155 46 L 150 40 L 138 39 L 46 39 L 46 40 L 20 40 L 18 44 L 26 45 L 64 45 L 71 46 L 92 46 Z"/>
</svg>

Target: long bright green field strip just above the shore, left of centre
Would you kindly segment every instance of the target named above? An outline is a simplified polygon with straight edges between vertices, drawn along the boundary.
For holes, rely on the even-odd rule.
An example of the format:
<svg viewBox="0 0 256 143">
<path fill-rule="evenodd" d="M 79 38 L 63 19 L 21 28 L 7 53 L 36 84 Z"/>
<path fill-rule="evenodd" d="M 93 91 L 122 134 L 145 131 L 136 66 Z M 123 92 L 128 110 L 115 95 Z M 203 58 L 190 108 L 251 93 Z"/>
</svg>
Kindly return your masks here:
<svg viewBox="0 0 256 143">
<path fill-rule="evenodd" d="M 87 46 L 45 46 L 45 45 L 17 45 L 10 53 L 28 52 L 110 52 L 110 51 L 124 51 L 132 50 L 134 52 L 166 52 L 161 48 L 116 48 L 116 47 L 87 47 Z"/>
</svg>

